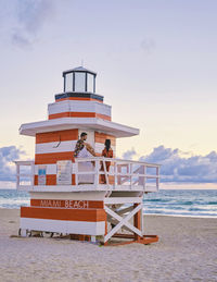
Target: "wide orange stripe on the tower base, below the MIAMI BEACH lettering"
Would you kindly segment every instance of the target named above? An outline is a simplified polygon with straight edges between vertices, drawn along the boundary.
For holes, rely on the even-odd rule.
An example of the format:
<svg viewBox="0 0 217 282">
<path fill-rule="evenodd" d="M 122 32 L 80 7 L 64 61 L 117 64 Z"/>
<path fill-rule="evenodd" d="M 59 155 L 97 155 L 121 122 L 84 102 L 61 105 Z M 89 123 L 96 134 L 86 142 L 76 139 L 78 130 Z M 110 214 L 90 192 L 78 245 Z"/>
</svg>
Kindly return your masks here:
<svg viewBox="0 0 217 282">
<path fill-rule="evenodd" d="M 61 209 L 21 207 L 21 218 L 72 220 L 72 221 L 105 221 L 104 209 Z"/>
</svg>

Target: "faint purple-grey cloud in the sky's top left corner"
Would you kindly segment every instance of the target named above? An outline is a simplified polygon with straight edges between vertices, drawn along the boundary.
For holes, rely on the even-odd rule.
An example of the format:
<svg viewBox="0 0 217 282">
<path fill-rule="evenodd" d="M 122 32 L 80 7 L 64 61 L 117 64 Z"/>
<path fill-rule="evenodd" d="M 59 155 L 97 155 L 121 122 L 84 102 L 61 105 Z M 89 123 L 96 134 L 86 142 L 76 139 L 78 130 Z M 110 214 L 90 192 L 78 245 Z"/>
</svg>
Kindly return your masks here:
<svg viewBox="0 0 217 282">
<path fill-rule="evenodd" d="M 7 26 L 11 42 L 30 47 L 46 23 L 53 19 L 56 0 L 0 0 L 1 25 Z"/>
</svg>

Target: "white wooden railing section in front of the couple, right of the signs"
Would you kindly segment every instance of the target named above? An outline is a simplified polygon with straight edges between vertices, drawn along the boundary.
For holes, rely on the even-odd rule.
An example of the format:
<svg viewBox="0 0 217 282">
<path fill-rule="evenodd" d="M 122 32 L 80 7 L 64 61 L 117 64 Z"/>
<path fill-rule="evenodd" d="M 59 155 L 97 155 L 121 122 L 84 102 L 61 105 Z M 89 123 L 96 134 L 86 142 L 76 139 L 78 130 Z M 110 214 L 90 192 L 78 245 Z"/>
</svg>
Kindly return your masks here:
<svg viewBox="0 0 217 282">
<path fill-rule="evenodd" d="M 106 171 L 106 162 L 111 163 L 110 171 Z M 110 159 L 110 158 L 76 158 L 76 185 L 86 183 L 87 175 L 92 175 L 87 181 L 95 186 L 107 185 L 113 186 L 114 189 L 122 189 L 128 186 L 129 189 L 140 186 L 145 191 L 145 187 L 158 191 L 159 187 L 159 164 L 148 163 L 141 161 L 123 160 L 123 159 Z M 80 164 L 87 164 L 87 170 L 79 170 Z M 91 165 L 90 165 L 91 164 Z M 148 172 L 149 170 L 149 172 Z M 105 183 L 102 183 L 101 179 L 104 175 Z M 80 177 L 81 176 L 81 177 Z M 84 176 L 84 181 L 82 181 Z M 94 176 L 94 177 L 93 177 Z"/>
</svg>

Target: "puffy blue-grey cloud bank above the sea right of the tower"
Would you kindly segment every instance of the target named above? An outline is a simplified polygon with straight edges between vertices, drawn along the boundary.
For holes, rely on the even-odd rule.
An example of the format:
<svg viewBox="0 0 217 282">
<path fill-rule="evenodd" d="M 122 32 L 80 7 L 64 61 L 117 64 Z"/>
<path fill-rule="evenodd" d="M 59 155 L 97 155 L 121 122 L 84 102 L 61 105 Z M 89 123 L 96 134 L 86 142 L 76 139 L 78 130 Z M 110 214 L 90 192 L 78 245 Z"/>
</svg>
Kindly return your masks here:
<svg viewBox="0 0 217 282">
<path fill-rule="evenodd" d="M 141 161 L 159 163 L 162 182 L 217 183 L 217 152 L 206 156 L 181 157 L 179 149 L 154 148 Z"/>
</svg>

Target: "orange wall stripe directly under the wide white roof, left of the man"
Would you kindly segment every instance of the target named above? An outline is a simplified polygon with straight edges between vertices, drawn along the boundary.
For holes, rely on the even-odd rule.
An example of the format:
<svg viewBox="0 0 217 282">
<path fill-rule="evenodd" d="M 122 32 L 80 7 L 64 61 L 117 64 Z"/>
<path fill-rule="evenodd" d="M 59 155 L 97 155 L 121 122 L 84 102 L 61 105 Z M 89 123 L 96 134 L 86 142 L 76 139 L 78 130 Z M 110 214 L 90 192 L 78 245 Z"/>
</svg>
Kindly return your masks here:
<svg viewBox="0 0 217 282">
<path fill-rule="evenodd" d="M 78 130 L 56 131 L 36 134 L 36 144 L 49 142 L 77 140 Z"/>
</svg>

